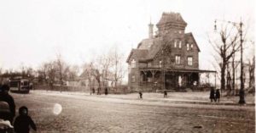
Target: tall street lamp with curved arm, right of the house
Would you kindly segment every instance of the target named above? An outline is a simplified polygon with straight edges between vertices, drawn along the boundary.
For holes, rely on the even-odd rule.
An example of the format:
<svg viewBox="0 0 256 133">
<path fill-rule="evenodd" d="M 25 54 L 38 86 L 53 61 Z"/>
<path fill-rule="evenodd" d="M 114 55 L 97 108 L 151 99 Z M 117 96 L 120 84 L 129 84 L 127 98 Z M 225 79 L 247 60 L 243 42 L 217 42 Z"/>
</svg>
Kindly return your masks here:
<svg viewBox="0 0 256 133">
<path fill-rule="evenodd" d="M 241 60 L 241 76 L 240 76 L 240 80 L 241 80 L 241 85 L 240 85 L 240 91 L 239 91 L 239 103 L 240 104 L 244 104 L 246 103 L 245 102 L 245 92 L 244 92 L 244 80 L 243 80 L 243 63 L 242 63 L 242 22 L 240 23 L 236 23 L 236 22 L 231 22 L 231 21 L 224 21 L 224 20 L 218 20 L 218 21 L 222 21 L 222 22 L 225 22 L 225 23 L 229 23 L 229 24 L 233 24 L 234 26 L 236 26 L 238 32 L 240 33 L 240 48 L 241 48 L 241 57 L 240 57 L 240 60 Z M 214 30 L 217 30 L 217 19 L 215 19 L 215 25 L 214 25 Z"/>
</svg>

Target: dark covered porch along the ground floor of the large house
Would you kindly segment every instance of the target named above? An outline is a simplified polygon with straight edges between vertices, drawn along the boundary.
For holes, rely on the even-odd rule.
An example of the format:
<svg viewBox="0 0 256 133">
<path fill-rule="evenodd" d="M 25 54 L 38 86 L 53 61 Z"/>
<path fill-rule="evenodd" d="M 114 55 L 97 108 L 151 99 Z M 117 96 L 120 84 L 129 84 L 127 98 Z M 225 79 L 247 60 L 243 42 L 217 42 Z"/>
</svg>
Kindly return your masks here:
<svg viewBox="0 0 256 133">
<path fill-rule="evenodd" d="M 182 91 L 201 86 L 201 74 L 213 74 L 216 87 L 216 71 L 201 69 L 140 69 L 139 86 L 151 91 Z M 209 77 L 208 77 L 209 78 Z"/>
</svg>

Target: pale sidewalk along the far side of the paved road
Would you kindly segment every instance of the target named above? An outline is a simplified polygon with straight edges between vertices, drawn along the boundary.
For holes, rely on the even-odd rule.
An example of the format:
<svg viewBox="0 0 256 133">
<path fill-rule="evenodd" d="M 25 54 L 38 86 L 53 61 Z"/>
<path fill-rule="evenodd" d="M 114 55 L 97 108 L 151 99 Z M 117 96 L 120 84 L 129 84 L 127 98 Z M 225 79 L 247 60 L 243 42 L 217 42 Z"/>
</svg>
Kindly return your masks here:
<svg viewBox="0 0 256 133">
<path fill-rule="evenodd" d="M 41 90 L 36 90 L 41 91 Z M 46 92 L 46 91 L 44 91 Z M 139 99 L 139 95 L 137 93 L 130 94 L 108 94 L 107 96 L 102 95 L 90 95 L 90 93 L 86 92 L 73 92 L 73 91 L 47 91 L 49 93 L 63 93 L 68 95 L 84 95 L 89 97 L 108 97 L 113 99 L 122 99 L 122 100 L 143 100 L 147 102 L 161 102 L 161 103 L 187 103 L 187 104 L 216 104 L 216 105 L 237 105 L 239 101 L 239 97 L 221 97 L 219 103 L 210 102 L 208 97 L 208 92 L 169 92 L 168 97 L 163 97 L 162 93 L 143 93 L 143 99 Z M 246 97 L 246 106 L 255 106 L 254 96 Z"/>
</svg>

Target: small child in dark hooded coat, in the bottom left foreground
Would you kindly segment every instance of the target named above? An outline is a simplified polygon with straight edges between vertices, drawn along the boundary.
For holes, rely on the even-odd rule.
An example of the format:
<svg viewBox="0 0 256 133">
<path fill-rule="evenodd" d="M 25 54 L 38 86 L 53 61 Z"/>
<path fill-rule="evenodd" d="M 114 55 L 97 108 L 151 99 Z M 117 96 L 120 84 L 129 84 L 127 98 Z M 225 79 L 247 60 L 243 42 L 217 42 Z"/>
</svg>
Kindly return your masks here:
<svg viewBox="0 0 256 133">
<path fill-rule="evenodd" d="M 26 106 L 19 108 L 19 116 L 15 119 L 15 132 L 16 133 L 29 133 L 30 127 L 37 131 L 37 126 L 35 125 L 32 118 L 28 115 L 28 109 Z"/>
</svg>

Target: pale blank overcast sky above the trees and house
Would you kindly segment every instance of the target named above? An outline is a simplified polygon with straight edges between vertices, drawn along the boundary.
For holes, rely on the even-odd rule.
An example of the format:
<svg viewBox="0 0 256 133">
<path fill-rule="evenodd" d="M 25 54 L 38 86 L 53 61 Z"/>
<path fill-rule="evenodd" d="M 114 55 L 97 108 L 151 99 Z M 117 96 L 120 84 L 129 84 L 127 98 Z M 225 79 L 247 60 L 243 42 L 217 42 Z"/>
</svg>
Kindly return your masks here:
<svg viewBox="0 0 256 133">
<path fill-rule="evenodd" d="M 83 64 L 118 45 L 125 57 L 148 37 L 148 23 L 178 12 L 201 48 L 200 67 L 211 69 L 207 34 L 214 19 L 250 25 L 255 41 L 254 0 L 4 0 L 0 1 L 0 67 L 37 68 L 60 52 L 69 64 Z M 251 48 L 250 48 L 251 49 Z M 246 54 L 253 54 L 252 50 Z M 246 55 L 247 57 L 247 55 Z"/>
</svg>

